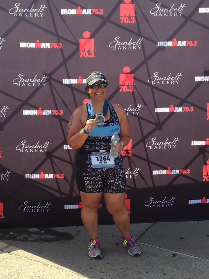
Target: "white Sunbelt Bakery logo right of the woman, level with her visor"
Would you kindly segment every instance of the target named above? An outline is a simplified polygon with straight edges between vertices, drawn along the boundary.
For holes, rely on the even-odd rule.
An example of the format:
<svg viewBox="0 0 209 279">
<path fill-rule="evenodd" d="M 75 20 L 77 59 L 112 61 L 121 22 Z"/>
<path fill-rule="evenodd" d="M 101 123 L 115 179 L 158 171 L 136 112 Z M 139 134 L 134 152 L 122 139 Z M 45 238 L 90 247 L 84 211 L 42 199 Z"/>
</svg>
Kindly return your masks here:
<svg viewBox="0 0 209 279">
<path fill-rule="evenodd" d="M 181 73 L 168 74 L 167 76 L 159 76 L 159 72 L 155 72 L 153 76 L 148 79 L 152 85 L 176 85 L 180 81 L 180 77 L 183 76 Z"/>
</svg>

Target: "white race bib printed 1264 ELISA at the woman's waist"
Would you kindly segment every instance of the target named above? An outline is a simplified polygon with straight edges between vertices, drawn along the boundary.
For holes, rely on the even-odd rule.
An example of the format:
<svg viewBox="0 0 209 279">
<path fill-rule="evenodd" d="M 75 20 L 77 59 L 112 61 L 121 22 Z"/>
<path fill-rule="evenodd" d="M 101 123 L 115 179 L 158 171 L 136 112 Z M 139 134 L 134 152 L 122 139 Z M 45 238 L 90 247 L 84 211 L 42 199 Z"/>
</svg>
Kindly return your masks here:
<svg viewBox="0 0 209 279">
<path fill-rule="evenodd" d="M 91 152 L 92 168 L 114 168 L 114 158 L 109 156 L 109 152 Z"/>
</svg>

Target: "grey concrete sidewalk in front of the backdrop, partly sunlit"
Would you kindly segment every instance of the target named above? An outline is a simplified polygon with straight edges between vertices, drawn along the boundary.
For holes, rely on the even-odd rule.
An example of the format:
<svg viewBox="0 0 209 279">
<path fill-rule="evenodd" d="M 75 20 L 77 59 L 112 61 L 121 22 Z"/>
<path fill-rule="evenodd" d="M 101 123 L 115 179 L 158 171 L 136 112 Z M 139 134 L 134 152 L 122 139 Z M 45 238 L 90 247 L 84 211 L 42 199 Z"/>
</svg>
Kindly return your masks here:
<svg viewBox="0 0 209 279">
<path fill-rule="evenodd" d="M 0 229 L 1 279 L 209 278 L 209 221 L 131 224 L 131 234 L 139 257 L 128 255 L 115 225 L 99 226 L 96 260 L 82 226 Z"/>
</svg>

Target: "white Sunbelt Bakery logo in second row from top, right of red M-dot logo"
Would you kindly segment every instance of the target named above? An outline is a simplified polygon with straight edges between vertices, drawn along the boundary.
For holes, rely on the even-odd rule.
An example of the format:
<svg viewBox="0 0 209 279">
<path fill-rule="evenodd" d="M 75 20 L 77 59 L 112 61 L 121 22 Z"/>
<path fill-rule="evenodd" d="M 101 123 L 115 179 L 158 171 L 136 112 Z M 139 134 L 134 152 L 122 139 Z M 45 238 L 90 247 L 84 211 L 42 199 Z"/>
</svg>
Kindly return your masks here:
<svg viewBox="0 0 209 279">
<path fill-rule="evenodd" d="M 109 47 L 112 50 L 139 50 L 143 41 L 145 41 L 143 37 L 139 37 L 137 39 L 131 37 L 129 40 L 123 40 L 120 36 L 116 36 L 114 41 L 109 44 Z"/>
</svg>

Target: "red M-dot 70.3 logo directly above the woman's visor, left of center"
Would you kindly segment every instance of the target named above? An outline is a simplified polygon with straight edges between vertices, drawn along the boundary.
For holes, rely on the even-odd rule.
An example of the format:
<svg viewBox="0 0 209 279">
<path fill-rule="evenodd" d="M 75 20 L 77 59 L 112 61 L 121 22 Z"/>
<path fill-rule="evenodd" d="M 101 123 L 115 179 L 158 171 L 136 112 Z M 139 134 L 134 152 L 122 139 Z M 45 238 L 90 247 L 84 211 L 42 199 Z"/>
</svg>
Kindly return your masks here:
<svg viewBox="0 0 209 279">
<path fill-rule="evenodd" d="M 89 31 L 84 31 L 83 37 L 84 39 L 79 39 L 79 53 L 80 58 L 93 58 L 96 57 L 94 51 L 94 39 L 89 39 L 91 33 Z"/>
</svg>

